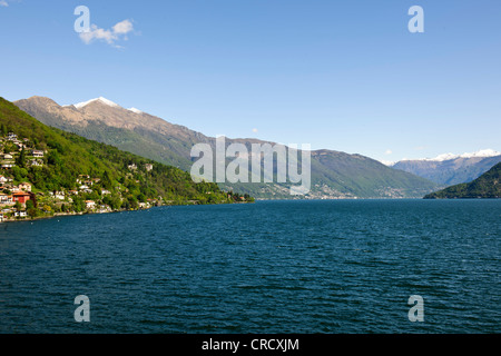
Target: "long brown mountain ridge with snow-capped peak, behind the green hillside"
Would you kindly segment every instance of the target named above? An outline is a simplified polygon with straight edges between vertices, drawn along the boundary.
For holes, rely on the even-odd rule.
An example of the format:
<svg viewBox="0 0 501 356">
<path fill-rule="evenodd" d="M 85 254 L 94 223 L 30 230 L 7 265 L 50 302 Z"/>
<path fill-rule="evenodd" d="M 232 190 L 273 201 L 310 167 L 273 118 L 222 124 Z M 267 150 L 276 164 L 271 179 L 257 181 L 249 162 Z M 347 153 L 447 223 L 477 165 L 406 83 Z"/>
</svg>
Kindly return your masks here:
<svg viewBox="0 0 501 356">
<path fill-rule="evenodd" d="M 153 160 L 189 171 L 195 144 L 215 147 L 216 139 L 170 123 L 138 109 L 125 109 L 105 98 L 59 106 L 49 98 L 31 97 L 14 102 L 46 125 L 112 145 Z M 226 139 L 226 144 L 271 144 L 257 139 Z M 276 165 L 275 165 L 276 167 Z M 276 181 L 276 180 L 274 180 Z M 286 184 L 219 184 L 223 189 L 257 198 L 291 198 Z M 394 170 L 361 155 L 334 150 L 312 151 L 312 189 L 306 198 L 422 197 L 438 185 L 415 175 Z"/>
</svg>

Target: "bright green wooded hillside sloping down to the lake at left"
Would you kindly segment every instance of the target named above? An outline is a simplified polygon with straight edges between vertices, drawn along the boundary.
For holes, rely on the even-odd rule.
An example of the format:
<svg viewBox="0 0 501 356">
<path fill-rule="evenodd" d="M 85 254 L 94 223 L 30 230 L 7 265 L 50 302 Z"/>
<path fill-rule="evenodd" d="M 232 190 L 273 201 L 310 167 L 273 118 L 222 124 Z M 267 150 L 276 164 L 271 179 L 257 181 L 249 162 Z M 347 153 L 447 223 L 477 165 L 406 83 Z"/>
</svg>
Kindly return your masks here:
<svg viewBox="0 0 501 356">
<path fill-rule="evenodd" d="M 13 186 L 30 182 L 33 192 L 49 206 L 56 207 L 50 198 L 55 191 L 66 197 L 75 192 L 65 205 L 77 211 L 76 201 L 86 200 L 112 209 L 137 208 L 148 199 L 169 204 L 234 200 L 217 185 L 195 184 L 189 174 L 178 168 L 46 126 L 3 98 L 0 138 L 3 159 L 9 158 L 12 164 L 2 167 L 2 176 Z M 9 194 L 13 186 L 2 189 Z"/>
</svg>

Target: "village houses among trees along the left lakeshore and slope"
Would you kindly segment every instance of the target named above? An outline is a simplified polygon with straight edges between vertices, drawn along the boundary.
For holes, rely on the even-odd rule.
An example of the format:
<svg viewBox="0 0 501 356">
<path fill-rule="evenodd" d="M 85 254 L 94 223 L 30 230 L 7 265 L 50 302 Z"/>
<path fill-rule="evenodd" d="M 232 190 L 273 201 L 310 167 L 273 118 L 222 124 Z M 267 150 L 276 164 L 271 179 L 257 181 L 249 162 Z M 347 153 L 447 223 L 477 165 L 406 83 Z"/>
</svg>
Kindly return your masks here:
<svg viewBox="0 0 501 356">
<path fill-rule="evenodd" d="M 163 204 L 159 199 L 138 199 L 129 201 L 125 198 L 127 187 L 121 184 L 114 187 L 114 191 L 104 188 L 100 178 L 89 175 L 79 175 L 73 189 L 42 191 L 36 189 L 28 181 L 28 170 L 32 167 L 40 169 L 47 165 L 48 151 L 36 149 L 29 139 L 18 138 L 9 132 L 0 137 L 0 222 L 47 218 L 60 215 L 98 214 L 129 209 L 148 209 Z M 138 167 L 128 165 L 132 177 Z M 150 171 L 151 164 L 146 164 L 141 169 Z M 229 196 L 228 196 L 229 198 Z M 239 197 L 238 197 L 239 198 Z M 244 200 L 244 198 L 242 197 Z M 188 204 L 197 204 L 189 200 Z"/>
</svg>

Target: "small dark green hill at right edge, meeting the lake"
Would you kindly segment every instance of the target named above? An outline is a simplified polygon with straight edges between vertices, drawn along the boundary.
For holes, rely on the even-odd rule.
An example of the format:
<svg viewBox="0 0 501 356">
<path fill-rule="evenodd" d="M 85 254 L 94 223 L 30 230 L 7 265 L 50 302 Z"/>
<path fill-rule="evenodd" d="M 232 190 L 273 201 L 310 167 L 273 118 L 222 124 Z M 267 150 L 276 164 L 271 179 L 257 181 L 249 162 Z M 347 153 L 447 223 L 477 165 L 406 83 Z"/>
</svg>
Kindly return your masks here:
<svg viewBox="0 0 501 356">
<path fill-rule="evenodd" d="M 469 184 L 429 194 L 425 199 L 501 198 L 501 162 Z"/>
</svg>

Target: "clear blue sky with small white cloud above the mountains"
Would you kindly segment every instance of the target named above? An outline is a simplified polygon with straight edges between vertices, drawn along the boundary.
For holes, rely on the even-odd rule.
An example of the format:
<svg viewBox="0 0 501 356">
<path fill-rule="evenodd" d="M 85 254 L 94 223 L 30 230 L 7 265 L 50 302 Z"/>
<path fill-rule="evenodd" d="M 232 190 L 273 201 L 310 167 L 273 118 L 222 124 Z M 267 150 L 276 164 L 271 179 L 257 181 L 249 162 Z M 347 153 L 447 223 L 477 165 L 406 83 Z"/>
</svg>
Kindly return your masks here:
<svg viewBox="0 0 501 356">
<path fill-rule="evenodd" d="M 379 160 L 501 151 L 500 63 L 499 0 L 0 0 L 8 100 L 105 97 L 207 136 Z"/>
</svg>

